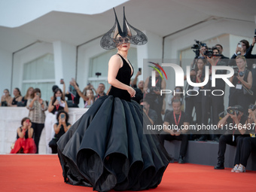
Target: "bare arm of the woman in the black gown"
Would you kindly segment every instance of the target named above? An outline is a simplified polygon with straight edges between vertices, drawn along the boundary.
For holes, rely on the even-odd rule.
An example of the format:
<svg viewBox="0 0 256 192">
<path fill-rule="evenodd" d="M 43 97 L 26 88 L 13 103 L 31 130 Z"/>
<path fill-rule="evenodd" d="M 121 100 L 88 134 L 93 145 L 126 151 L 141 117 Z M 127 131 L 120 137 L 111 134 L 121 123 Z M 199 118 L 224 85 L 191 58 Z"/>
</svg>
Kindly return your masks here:
<svg viewBox="0 0 256 192">
<path fill-rule="evenodd" d="M 120 56 L 111 56 L 111 59 L 108 62 L 108 84 L 111 84 L 112 86 L 117 87 L 121 90 L 127 90 L 128 93 L 130 93 L 130 96 L 135 96 L 136 91 L 133 89 L 133 87 L 121 83 L 116 78 L 117 72 L 120 69 L 121 64 L 122 60 Z"/>
</svg>

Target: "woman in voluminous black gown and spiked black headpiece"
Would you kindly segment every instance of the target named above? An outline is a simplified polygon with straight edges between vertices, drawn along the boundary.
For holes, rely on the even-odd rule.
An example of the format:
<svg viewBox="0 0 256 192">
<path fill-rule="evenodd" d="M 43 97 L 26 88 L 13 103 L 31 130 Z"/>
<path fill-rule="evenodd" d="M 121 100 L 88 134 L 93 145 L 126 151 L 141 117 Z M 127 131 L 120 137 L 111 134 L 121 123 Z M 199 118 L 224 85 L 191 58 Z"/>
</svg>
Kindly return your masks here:
<svg viewBox="0 0 256 192">
<path fill-rule="evenodd" d="M 123 32 L 116 17 L 101 41 L 103 48 L 118 50 L 108 62 L 108 96 L 97 99 L 57 143 L 64 181 L 98 191 L 157 187 L 169 163 L 157 136 L 144 129 L 148 117 L 130 99 L 136 92 L 130 87 L 133 66 L 126 56 L 130 43 L 145 44 L 147 38 L 125 16 L 123 20 Z"/>
</svg>

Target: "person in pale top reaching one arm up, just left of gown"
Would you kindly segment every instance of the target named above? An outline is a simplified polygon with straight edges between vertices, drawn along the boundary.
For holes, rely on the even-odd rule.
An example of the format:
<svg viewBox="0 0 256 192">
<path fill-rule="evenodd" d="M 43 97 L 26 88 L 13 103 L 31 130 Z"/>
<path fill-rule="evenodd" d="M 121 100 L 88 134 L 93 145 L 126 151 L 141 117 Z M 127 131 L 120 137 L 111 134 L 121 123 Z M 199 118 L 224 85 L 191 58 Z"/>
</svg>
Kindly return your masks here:
<svg viewBox="0 0 256 192">
<path fill-rule="evenodd" d="M 87 87 L 85 87 L 86 95 L 81 93 L 81 90 L 79 90 L 79 87 L 75 83 L 75 81 L 72 82 L 72 85 L 75 87 L 75 90 L 77 91 L 78 95 L 84 99 L 84 108 L 90 108 L 90 106 L 93 105 L 93 102 L 94 102 L 93 90 L 90 89 L 90 87 L 93 87 L 93 85 L 89 84 L 89 85 L 87 85 Z"/>
</svg>

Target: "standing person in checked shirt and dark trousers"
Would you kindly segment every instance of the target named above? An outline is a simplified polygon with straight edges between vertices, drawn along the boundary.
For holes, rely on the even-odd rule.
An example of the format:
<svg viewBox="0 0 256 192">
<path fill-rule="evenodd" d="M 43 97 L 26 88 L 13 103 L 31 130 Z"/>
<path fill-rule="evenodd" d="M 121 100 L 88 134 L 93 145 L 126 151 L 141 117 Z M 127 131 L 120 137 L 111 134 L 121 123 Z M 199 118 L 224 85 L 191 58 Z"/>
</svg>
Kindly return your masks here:
<svg viewBox="0 0 256 192">
<path fill-rule="evenodd" d="M 44 129 L 44 111 L 47 110 L 46 102 L 41 99 L 40 89 L 35 88 L 35 90 L 33 90 L 31 98 L 28 100 L 26 107 L 29 109 L 29 118 L 32 121 L 32 127 L 34 128 L 34 140 L 37 148 L 36 153 L 38 154 L 41 132 Z"/>
</svg>

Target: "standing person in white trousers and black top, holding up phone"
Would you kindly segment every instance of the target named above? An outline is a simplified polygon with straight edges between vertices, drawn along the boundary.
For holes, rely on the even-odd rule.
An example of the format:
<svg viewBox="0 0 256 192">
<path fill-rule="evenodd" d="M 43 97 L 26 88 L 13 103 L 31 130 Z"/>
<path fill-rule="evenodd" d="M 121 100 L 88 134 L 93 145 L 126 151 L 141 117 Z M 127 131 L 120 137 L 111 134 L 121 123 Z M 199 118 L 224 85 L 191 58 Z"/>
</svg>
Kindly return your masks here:
<svg viewBox="0 0 256 192">
<path fill-rule="evenodd" d="M 49 113 L 47 114 L 44 123 L 46 143 L 49 143 L 54 136 L 53 125 L 56 123 L 56 114 L 58 111 L 64 110 L 67 113 L 69 112 L 67 102 L 63 99 L 62 96 L 62 90 L 56 88 L 53 93 L 53 99 L 49 103 Z M 46 153 L 51 154 L 51 148 L 49 148 L 48 145 L 46 146 Z"/>
</svg>

